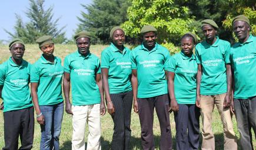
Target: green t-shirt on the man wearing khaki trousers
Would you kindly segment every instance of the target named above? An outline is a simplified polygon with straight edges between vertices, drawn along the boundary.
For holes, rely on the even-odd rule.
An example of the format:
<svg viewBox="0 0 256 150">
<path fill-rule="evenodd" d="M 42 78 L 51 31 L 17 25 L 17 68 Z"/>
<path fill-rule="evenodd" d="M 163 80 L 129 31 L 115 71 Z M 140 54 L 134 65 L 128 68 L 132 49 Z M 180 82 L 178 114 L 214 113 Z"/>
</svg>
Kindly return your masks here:
<svg viewBox="0 0 256 150">
<path fill-rule="evenodd" d="M 217 37 L 214 44 L 206 41 L 195 46 L 197 64 L 202 65 L 201 95 L 217 95 L 227 92 L 225 64 L 230 64 L 230 43 Z"/>
</svg>

